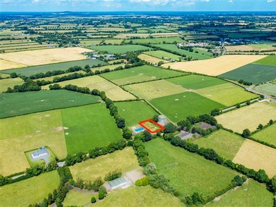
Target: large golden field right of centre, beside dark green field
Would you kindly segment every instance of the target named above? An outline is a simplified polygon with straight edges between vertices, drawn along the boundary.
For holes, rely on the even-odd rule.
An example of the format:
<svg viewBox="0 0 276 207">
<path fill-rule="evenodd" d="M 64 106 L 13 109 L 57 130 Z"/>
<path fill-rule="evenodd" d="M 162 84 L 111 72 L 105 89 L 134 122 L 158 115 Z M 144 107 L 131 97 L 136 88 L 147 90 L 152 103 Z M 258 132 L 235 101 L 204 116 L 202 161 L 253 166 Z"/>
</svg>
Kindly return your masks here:
<svg viewBox="0 0 276 207">
<path fill-rule="evenodd" d="M 206 59 L 199 61 L 165 63 L 164 68 L 175 70 L 183 70 L 188 72 L 197 72 L 206 75 L 221 75 L 225 72 L 247 65 L 259 59 L 266 57 L 265 55 L 224 55 L 214 59 Z"/>
</svg>

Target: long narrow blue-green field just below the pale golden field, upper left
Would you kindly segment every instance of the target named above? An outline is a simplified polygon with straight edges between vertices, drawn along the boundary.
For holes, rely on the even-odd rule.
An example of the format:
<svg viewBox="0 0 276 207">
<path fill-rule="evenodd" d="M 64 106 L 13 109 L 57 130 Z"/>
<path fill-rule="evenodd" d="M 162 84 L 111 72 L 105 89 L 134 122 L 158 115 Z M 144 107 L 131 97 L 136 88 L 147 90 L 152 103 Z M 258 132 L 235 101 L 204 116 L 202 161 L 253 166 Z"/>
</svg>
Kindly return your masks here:
<svg viewBox="0 0 276 207">
<path fill-rule="evenodd" d="M 84 68 L 84 66 L 86 66 L 86 65 L 97 66 L 98 64 L 105 65 L 106 63 L 99 59 L 86 59 L 86 60 L 81 60 L 81 61 L 70 61 L 70 62 L 65 62 L 65 63 L 48 64 L 48 65 L 44 65 L 44 66 L 33 66 L 33 67 L 28 67 L 28 68 L 2 70 L 2 72 L 6 72 L 9 74 L 12 72 L 16 72 L 17 74 L 30 76 L 30 75 L 37 74 L 39 72 L 48 72 L 48 71 L 53 71 L 53 70 L 66 70 L 73 66 L 81 66 Z"/>
</svg>

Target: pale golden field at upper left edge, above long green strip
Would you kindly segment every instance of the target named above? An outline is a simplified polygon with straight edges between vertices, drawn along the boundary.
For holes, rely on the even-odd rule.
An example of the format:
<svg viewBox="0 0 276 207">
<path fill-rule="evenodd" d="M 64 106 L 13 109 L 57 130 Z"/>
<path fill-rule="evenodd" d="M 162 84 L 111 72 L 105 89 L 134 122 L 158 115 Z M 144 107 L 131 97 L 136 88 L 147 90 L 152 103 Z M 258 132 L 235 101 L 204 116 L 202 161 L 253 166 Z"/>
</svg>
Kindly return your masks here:
<svg viewBox="0 0 276 207">
<path fill-rule="evenodd" d="M 54 48 L 46 50 L 3 53 L 0 54 L 0 59 L 11 61 L 13 63 L 23 64 L 26 66 L 39 66 L 50 63 L 86 59 L 86 56 L 81 55 L 81 52 L 89 51 L 92 50 L 86 48 Z M 7 63 L 6 68 L 1 66 L 1 70 L 8 68 L 11 68 L 11 66 L 9 66 Z"/>
</svg>

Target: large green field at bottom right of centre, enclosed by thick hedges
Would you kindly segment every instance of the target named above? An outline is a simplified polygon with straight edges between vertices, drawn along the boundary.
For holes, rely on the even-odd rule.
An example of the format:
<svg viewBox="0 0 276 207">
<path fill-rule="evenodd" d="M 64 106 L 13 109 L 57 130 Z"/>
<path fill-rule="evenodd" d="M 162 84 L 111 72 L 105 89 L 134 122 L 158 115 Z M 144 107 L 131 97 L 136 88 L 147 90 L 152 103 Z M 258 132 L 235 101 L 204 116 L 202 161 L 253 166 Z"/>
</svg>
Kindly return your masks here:
<svg viewBox="0 0 276 207">
<path fill-rule="evenodd" d="M 170 179 L 170 184 L 182 195 L 194 192 L 209 195 L 225 188 L 237 175 L 233 170 L 172 146 L 162 139 L 153 139 L 144 145 L 150 161 L 157 166 L 157 172 L 166 175 Z M 174 163 L 177 165 L 166 167 Z"/>
</svg>

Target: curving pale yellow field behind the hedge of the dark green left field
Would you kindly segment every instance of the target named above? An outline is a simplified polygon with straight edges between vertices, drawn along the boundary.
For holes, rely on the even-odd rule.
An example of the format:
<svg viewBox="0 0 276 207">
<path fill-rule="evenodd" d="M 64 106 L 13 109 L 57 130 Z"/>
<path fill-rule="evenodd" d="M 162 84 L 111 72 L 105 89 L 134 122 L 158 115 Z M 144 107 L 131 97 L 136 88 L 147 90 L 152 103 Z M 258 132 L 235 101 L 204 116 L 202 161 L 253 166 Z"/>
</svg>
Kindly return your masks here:
<svg viewBox="0 0 276 207">
<path fill-rule="evenodd" d="M 119 88 L 115 84 L 99 77 L 98 75 L 84 77 L 81 79 L 72 79 L 70 81 L 63 81 L 59 82 L 60 86 L 66 86 L 68 84 L 76 85 L 79 87 L 88 87 L 90 90 L 98 89 L 100 91 L 106 92 L 106 96 L 113 101 L 124 101 L 127 99 L 136 99 L 130 93 L 124 91 L 123 89 Z M 43 89 L 48 89 L 49 86 L 43 86 Z"/>
</svg>

